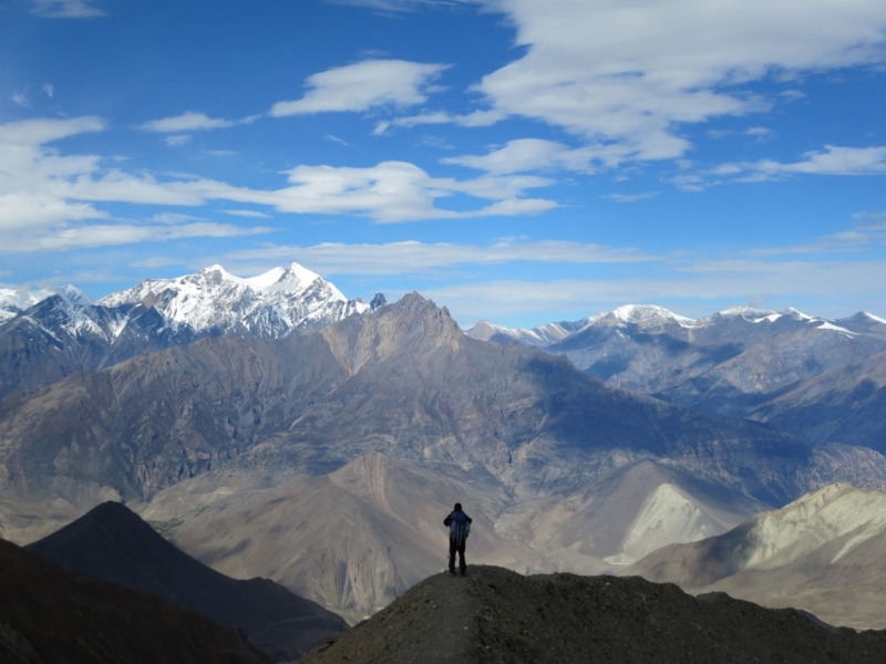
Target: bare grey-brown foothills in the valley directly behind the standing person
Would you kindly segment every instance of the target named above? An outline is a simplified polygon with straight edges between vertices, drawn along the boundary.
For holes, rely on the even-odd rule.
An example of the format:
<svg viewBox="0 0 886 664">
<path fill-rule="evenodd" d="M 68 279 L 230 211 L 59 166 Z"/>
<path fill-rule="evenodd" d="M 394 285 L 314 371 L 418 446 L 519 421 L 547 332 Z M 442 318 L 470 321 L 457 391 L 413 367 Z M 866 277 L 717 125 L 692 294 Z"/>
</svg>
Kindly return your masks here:
<svg viewBox="0 0 886 664">
<path fill-rule="evenodd" d="M 159 518 L 169 504 L 194 498 L 176 488 L 145 515 Z M 468 564 L 534 573 L 617 570 L 650 547 L 724 532 L 761 509 L 738 491 L 652 461 L 574 494 L 517 502 L 488 474 L 444 474 L 370 453 L 246 508 L 215 518 L 206 509 L 173 539 L 226 574 L 271 578 L 357 622 L 444 569 L 442 522 L 456 501 L 474 519 Z"/>
</svg>

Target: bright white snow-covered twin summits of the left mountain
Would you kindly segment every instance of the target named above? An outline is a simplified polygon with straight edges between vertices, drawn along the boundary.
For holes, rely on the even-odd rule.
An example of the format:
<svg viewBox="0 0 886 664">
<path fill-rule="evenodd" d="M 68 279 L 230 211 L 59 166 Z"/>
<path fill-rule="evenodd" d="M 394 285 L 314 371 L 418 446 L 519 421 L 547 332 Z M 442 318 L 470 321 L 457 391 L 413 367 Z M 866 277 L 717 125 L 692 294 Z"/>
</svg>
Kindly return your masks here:
<svg viewBox="0 0 886 664">
<path fill-rule="evenodd" d="M 148 279 L 97 302 L 140 303 L 154 307 L 173 330 L 270 338 L 313 332 L 370 308 L 298 263 L 249 279 L 216 264 L 176 279 Z"/>
</svg>

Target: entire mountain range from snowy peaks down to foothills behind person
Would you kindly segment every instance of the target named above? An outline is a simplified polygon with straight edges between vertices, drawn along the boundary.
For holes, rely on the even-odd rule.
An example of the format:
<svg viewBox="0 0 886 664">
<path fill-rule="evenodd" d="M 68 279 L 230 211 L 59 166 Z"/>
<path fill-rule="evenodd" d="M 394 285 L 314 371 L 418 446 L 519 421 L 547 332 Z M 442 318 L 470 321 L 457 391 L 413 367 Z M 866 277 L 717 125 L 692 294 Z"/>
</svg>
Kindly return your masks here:
<svg viewBox="0 0 886 664">
<path fill-rule="evenodd" d="M 886 489 L 869 314 L 626 307 L 494 343 L 515 339 L 297 264 L 65 292 L 0 324 L 18 542 L 125 501 L 203 563 L 356 622 L 443 566 L 456 500 L 470 560 L 598 573 L 833 483 Z"/>
</svg>

